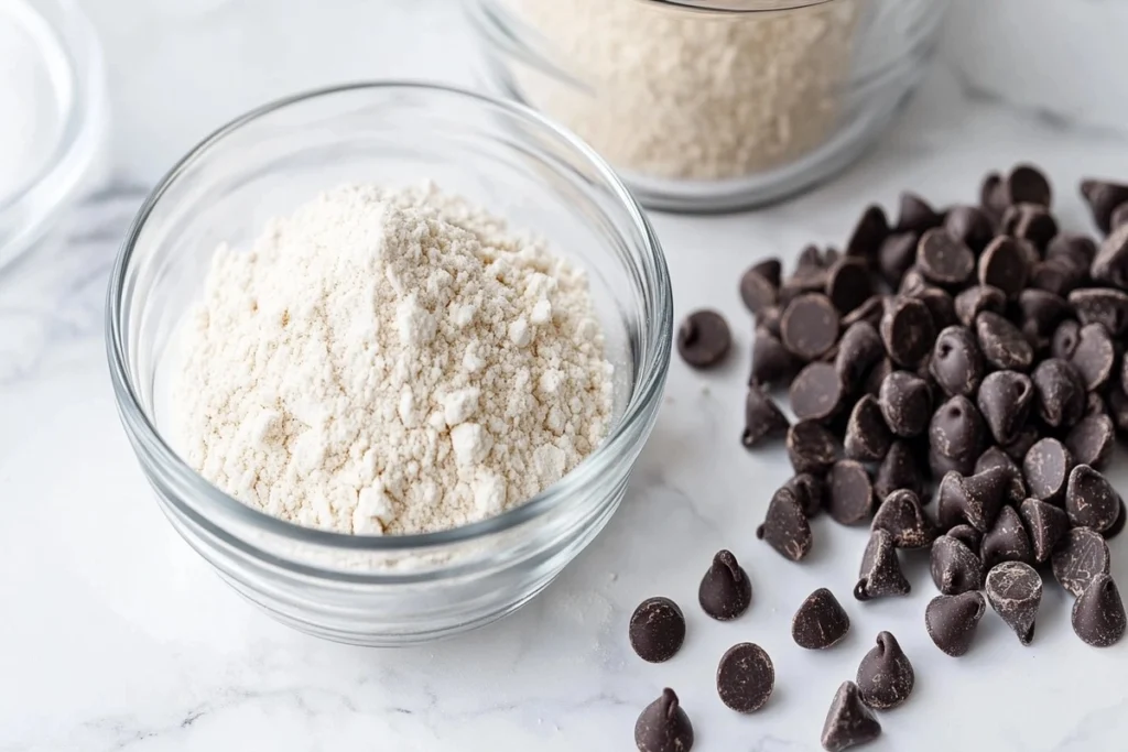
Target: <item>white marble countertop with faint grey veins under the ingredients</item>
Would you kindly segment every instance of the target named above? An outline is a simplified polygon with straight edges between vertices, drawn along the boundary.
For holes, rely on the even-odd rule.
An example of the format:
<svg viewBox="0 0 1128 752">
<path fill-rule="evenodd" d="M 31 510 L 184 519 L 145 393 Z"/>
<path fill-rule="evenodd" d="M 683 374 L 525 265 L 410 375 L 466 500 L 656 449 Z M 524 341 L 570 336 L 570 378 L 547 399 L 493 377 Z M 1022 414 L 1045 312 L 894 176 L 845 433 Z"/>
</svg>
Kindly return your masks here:
<svg viewBox="0 0 1128 752">
<path fill-rule="evenodd" d="M 737 441 L 750 333 L 735 294 L 754 258 L 841 242 L 867 198 L 892 205 L 913 187 L 937 203 L 968 200 L 986 169 L 1022 159 L 1048 169 L 1063 215 L 1087 227 L 1078 177 L 1128 176 L 1128 96 L 1117 90 L 1126 83 L 1114 51 L 1094 38 L 1122 27 L 1128 5 L 962 0 L 920 95 L 847 174 L 759 213 L 655 216 L 679 316 L 707 303 L 737 325 L 730 366 L 702 375 L 673 363 L 622 511 L 543 596 L 484 630 L 399 651 L 276 625 L 176 537 L 118 426 L 103 301 L 144 191 L 222 121 L 341 80 L 470 82 L 457 3 L 87 5 L 107 47 L 112 177 L 56 242 L 0 275 L 0 751 L 626 750 L 638 710 L 670 685 L 695 723 L 695 750 L 813 752 L 836 687 L 881 629 L 900 638 L 917 689 L 881 715 L 885 733 L 866 749 L 1128 746 L 1128 640 L 1082 644 L 1058 587 L 1047 587 L 1033 645 L 988 613 L 972 652 L 953 660 L 924 630 L 934 594 L 924 566 L 909 570 L 911 596 L 863 605 L 848 594 L 864 531 L 820 520 L 803 566 L 755 540 L 767 492 L 788 468 L 782 451 L 749 454 Z M 1074 45 L 1052 53 L 1060 67 L 1030 46 L 1060 39 Z M 1128 474 L 1113 476 L 1128 492 Z M 737 552 L 756 591 L 730 623 L 694 603 L 720 547 Z M 1128 536 L 1112 549 L 1113 574 L 1128 584 Z M 854 627 L 812 654 L 791 643 L 790 620 L 821 585 Z M 631 610 L 652 594 L 679 600 L 689 619 L 685 648 L 662 665 L 626 644 Z M 717 658 L 742 640 L 764 645 L 777 671 L 775 696 L 752 716 L 726 710 L 714 689 Z"/>
</svg>

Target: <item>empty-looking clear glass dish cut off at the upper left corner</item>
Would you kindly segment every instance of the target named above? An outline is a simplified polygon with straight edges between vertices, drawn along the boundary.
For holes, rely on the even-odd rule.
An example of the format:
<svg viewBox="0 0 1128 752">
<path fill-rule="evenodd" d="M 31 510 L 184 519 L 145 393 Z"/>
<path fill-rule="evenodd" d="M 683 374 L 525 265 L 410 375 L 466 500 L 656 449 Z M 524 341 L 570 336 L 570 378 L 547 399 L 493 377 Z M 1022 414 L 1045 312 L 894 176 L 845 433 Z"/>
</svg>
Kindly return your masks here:
<svg viewBox="0 0 1128 752">
<path fill-rule="evenodd" d="M 0 2 L 0 45 L 2 269 L 80 195 L 107 105 L 102 48 L 73 0 Z"/>
</svg>

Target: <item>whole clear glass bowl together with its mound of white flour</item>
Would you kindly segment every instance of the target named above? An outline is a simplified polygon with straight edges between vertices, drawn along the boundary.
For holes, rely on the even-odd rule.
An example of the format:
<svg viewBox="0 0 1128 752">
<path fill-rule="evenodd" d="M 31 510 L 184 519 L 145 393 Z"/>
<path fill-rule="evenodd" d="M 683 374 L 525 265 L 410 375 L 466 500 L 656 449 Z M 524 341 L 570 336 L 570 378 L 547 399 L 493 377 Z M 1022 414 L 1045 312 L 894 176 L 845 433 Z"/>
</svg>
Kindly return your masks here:
<svg viewBox="0 0 1128 752">
<path fill-rule="evenodd" d="M 185 540 L 290 626 L 400 645 L 509 613 L 602 529 L 671 316 L 658 240 L 587 145 L 386 82 L 185 157 L 120 254 L 107 348 Z"/>
</svg>

